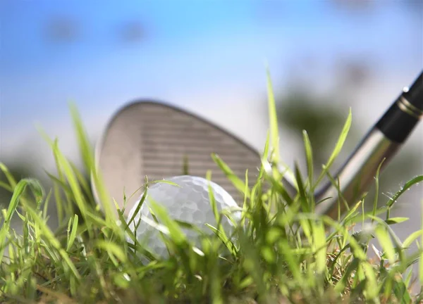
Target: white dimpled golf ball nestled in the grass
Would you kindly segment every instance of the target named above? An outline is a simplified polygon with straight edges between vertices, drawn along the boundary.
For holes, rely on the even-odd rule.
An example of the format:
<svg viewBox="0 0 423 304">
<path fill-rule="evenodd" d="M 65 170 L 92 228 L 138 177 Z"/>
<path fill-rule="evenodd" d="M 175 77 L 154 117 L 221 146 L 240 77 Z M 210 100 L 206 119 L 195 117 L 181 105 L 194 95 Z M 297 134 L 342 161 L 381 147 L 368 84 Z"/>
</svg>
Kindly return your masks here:
<svg viewBox="0 0 423 304">
<path fill-rule="evenodd" d="M 173 218 L 173 220 L 188 222 L 207 234 L 213 234 L 212 229 L 205 225 L 207 223 L 216 227 L 216 218 L 214 217 L 212 205 L 209 200 L 210 185 L 219 213 L 221 213 L 222 210 L 228 210 L 231 212 L 231 217 L 235 222 L 240 220 L 240 210 L 237 203 L 235 203 L 232 196 L 218 184 L 202 177 L 190 175 L 170 177 L 164 180 L 173 182 L 174 184 L 157 182 L 157 184 L 149 186 L 144 203 L 135 215 L 134 221 L 129 225 L 133 232 L 135 232 L 136 229 L 137 239 L 140 243 L 145 241 L 147 246 L 155 253 L 166 256 L 167 250 L 159 234 L 160 232 L 152 227 L 152 225 L 147 224 L 145 220 L 142 220 L 147 218 L 149 219 L 149 221 L 147 220 L 148 222 L 154 221 L 149 210 L 151 201 L 166 208 L 168 215 Z M 175 184 L 177 184 L 177 186 Z M 142 195 L 130 210 L 128 215 L 129 220 L 133 217 L 141 198 Z M 161 223 L 159 219 L 157 220 Z M 221 224 L 226 234 L 229 236 L 231 231 L 233 231 L 233 223 L 231 220 L 228 220 L 228 217 L 223 215 Z M 182 230 L 188 239 L 196 241 L 196 237 L 199 235 L 197 232 L 185 228 L 182 228 Z"/>
</svg>

